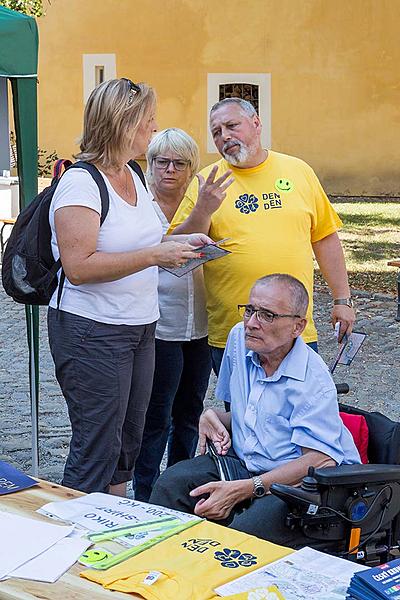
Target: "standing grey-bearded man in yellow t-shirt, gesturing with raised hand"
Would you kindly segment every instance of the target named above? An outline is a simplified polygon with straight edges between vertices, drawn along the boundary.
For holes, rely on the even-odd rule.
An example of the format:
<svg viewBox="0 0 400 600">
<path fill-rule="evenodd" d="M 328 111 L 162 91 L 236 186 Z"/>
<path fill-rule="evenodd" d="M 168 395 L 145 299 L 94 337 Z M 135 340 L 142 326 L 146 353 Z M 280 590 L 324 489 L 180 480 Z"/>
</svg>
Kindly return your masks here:
<svg viewBox="0 0 400 600">
<path fill-rule="evenodd" d="M 245 100 L 215 104 L 210 129 L 223 158 L 191 183 L 171 229 L 229 238 L 224 248 L 231 254 L 204 265 L 214 370 L 218 373 L 228 333 L 240 320 L 237 305 L 247 302 L 257 278 L 270 273 L 288 273 L 305 285 L 311 301 L 303 338 L 317 349 L 313 255 L 332 293 L 332 324 L 340 322 L 341 340 L 355 321 L 337 235 L 342 223 L 314 171 L 298 158 L 262 147 L 260 118 Z"/>
</svg>

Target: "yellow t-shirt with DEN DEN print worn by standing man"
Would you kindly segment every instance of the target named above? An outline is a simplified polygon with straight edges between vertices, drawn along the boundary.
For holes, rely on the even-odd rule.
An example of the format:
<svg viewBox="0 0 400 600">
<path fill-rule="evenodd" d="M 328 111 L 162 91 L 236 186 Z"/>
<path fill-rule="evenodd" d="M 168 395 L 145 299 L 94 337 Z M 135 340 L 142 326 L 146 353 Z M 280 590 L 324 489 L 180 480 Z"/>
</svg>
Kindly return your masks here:
<svg viewBox="0 0 400 600">
<path fill-rule="evenodd" d="M 227 169 L 234 182 L 211 217 L 210 237 L 231 238 L 224 244 L 232 254 L 204 265 L 207 289 L 208 337 L 224 348 L 232 327 L 240 321 L 238 304 L 248 302 L 253 283 L 263 275 L 288 273 L 304 283 L 310 296 L 305 342 L 317 339 L 312 320 L 312 243 L 342 225 L 317 176 L 304 161 L 269 151 L 251 169 L 238 169 L 221 159 L 216 177 Z M 201 171 L 207 177 L 214 165 Z M 197 178 L 190 184 L 170 230 L 190 214 L 198 195 Z"/>
</svg>

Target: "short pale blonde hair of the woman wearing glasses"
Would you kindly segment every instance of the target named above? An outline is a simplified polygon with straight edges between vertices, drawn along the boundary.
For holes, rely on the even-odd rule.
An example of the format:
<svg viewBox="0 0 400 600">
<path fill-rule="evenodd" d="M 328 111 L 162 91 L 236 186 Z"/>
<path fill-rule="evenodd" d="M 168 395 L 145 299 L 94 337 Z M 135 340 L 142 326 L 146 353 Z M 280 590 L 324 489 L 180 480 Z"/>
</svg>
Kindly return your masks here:
<svg viewBox="0 0 400 600">
<path fill-rule="evenodd" d="M 190 179 L 197 173 L 200 166 L 199 147 L 190 135 L 183 129 L 169 127 L 159 131 L 151 140 L 147 149 L 147 179 L 153 183 L 153 161 L 156 156 L 165 152 L 175 152 L 189 163 Z"/>
</svg>

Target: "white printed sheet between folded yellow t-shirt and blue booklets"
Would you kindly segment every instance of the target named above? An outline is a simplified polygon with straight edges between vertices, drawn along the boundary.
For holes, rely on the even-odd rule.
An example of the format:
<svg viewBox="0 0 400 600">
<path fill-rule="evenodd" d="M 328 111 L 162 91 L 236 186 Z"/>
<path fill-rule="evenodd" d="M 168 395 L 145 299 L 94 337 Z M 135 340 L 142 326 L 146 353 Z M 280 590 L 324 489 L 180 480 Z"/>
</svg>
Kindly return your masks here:
<svg viewBox="0 0 400 600">
<path fill-rule="evenodd" d="M 368 568 L 306 547 L 215 591 L 229 596 L 274 584 L 285 600 L 344 600 L 353 574 Z"/>
</svg>

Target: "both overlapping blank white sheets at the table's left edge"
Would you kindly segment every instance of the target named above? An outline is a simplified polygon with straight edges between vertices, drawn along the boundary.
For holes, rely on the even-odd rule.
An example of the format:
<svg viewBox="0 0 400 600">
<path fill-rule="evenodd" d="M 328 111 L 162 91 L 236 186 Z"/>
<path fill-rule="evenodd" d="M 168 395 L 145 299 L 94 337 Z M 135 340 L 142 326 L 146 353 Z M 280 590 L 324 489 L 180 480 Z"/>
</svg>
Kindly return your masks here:
<svg viewBox="0 0 400 600">
<path fill-rule="evenodd" d="M 67 538 L 73 529 L 0 512 L 0 579 L 56 581 L 89 545 L 87 540 Z"/>
</svg>

